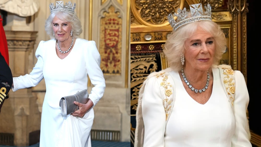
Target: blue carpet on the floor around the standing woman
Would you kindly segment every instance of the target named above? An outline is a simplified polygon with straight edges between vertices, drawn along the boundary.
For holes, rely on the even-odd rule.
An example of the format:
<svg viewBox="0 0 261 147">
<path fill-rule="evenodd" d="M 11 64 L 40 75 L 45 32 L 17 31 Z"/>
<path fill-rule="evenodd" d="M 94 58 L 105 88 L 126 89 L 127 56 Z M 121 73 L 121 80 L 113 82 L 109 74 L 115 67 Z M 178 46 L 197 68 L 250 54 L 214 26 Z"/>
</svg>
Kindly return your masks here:
<svg viewBox="0 0 261 147">
<path fill-rule="evenodd" d="M 96 141 L 92 140 L 92 147 L 130 147 L 131 142 L 104 142 L 104 141 Z M 10 145 L 0 145 L 0 147 L 16 147 Z M 27 147 L 39 147 L 39 143 L 30 145 Z"/>
</svg>

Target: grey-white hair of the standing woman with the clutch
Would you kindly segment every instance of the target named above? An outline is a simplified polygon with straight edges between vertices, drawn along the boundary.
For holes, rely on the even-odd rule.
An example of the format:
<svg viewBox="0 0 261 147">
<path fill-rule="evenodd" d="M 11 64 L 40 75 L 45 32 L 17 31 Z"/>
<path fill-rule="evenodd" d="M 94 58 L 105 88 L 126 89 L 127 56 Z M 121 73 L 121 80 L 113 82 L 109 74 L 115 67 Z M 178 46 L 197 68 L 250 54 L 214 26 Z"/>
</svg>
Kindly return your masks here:
<svg viewBox="0 0 261 147">
<path fill-rule="evenodd" d="M 45 21 L 45 31 L 50 36 L 50 38 L 55 38 L 52 30 L 52 21 L 54 17 L 58 17 L 62 21 L 70 22 L 73 30 L 73 37 L 77 38 L 82 33 L 81 21 L 78 16 L 70 12 L 53 12 Z"/>
</svg>

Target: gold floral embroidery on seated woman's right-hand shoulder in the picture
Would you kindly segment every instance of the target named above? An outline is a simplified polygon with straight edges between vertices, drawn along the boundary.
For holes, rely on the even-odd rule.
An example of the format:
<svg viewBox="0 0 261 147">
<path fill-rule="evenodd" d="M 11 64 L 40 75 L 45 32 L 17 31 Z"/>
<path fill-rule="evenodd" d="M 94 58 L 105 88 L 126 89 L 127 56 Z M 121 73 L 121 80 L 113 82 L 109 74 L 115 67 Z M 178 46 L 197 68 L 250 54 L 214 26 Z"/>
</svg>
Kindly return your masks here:
<svg viewBox="0 0 261 147">
<path fill-rule="evenodd" d="M 234 94 L 235 94 L 235 81 L 233 80 L 232 76 L 234 76 L 234 70 L 230 69 L 230 68 L 224 68 L 223 69 L 223 74 L 226 75 L 224 77 L 223 83 L 226 86 L 226 90 L 228 93 L 228 96 L 230 101 L 231 101 L 231 105 L 233 106 L 234 103 Z"/>
</svg>

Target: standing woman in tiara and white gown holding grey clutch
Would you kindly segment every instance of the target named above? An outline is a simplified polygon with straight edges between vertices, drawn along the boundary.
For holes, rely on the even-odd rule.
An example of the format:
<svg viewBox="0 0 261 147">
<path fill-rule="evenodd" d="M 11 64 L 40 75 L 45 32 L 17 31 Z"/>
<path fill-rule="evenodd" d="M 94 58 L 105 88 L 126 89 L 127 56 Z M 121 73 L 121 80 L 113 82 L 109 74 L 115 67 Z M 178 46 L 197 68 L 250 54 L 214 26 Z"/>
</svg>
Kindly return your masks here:
<svg viewBox="0 0 261 147">
<path fill-rule="evenodd" d="M 50 4 L 45 30 L 53 39 L 39 43 L 35 52 L 37 63 L 30 74 L 13 78 L 13 91 L 36 86 L 45 79 L 40 147 L 91 146 L 93 107 L 103 96 L 105 80 L 95 42 L 78 37 L 82 29 L 74 9 L 75 3 L 71 2 L 64 5 L 63 1 L 57 1 L 56 7 Z M 74 102 L 79 110 L 63 116 L 60 99 L 85 90 L 87 75 L 94 85 L 89 101 Z"/>
</svg>

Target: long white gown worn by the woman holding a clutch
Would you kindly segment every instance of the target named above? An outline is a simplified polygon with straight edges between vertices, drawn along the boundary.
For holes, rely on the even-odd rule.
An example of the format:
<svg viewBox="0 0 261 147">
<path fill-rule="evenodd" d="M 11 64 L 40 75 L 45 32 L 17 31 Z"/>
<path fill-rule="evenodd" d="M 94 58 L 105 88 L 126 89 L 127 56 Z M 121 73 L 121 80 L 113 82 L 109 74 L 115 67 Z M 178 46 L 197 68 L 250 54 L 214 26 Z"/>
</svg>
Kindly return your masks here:
<svg viewBox="0 0 261 147">
<path fill-rule="evenodd" d="M 63 96 L 87 89 L 87 75 L 95 85 L 89 98 L 97 104 L 103 96 L 105 80 L 100 69 L 100 55 L 94 41 L 77 38 L 70 54 L 64 59 L 56 55 L 56 40 L 41 41 L 35 52 L 37 63 L 30 74 L 14 77 L 13 91 L 37 85 L 45 79 L 40 130 L 40 147 L 91 146 L 90 131 L 94 112 L 91 108 L 83 118 L 64 117 L 59 106 Z"/>
</svg>

